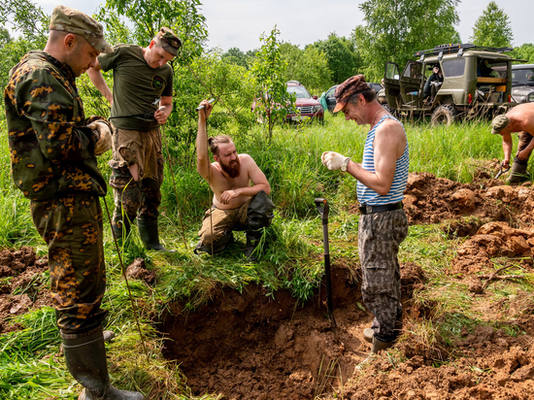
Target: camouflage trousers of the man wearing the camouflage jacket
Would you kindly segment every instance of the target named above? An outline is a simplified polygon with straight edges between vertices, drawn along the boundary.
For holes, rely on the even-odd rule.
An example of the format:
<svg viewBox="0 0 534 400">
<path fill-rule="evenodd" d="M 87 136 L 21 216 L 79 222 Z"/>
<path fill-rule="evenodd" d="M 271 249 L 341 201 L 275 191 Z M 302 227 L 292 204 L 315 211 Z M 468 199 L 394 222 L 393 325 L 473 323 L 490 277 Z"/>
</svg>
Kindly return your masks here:
<svg viewBox="0 0 534 400">
<path fill-rule="evenodd" d="M 102 209 L 97 196 L 32 201 L 31 213 L 48 245 L 51 296 L 57 325 L 81 333 L 102 324 L 106 287 Z"/>
</svg>

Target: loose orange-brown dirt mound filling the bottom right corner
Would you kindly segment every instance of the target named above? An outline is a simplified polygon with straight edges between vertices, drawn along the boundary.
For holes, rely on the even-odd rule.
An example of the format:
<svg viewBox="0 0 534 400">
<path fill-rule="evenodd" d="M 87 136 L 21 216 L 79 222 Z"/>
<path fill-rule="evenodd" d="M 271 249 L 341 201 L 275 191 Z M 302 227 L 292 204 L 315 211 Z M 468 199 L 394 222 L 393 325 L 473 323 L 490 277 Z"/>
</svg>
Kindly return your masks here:
<svg viewBox="0 0 534 400">
<path fill-rule="evenodd" d="M 347 399 L 534 398 L 534 317 L 519 323 L 525 335 L 507 336 L 489 326 L 467 335 L 454 363 L 429 365 L 422 356 L 393 364 L 380 356 L 339 393 Z M 403 343 L 399 345 L 402 347 Z M 339 398 L 339 397 L 335 397 Z"/>
</svg>

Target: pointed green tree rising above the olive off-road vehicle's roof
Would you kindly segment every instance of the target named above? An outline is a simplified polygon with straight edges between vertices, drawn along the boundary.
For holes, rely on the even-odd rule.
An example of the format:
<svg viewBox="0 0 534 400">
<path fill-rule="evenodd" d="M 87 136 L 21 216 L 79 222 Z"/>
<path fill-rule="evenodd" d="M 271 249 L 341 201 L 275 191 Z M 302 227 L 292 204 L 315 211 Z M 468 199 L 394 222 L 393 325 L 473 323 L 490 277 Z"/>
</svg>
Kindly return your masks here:
<svg viewBox="0 0 534 400">
<path fill-rule="evenodd" d="M 494 1 L 490 1 L 473 27 L 473 43 L 488 47 L 509 47 L 513 34 L 510 19 Z"/>
</svg>

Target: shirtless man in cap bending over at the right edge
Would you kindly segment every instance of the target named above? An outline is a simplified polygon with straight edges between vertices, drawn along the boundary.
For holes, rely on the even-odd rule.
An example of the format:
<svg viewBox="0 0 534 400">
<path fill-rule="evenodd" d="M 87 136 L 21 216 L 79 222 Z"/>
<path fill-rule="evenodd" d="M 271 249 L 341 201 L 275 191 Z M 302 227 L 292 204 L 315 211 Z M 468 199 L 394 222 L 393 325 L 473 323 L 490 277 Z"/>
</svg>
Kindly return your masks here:
<svg viewBox="0 0 534 400">
<path fill-rule="evenodd" d="M 534 149 L 534 103 L 519 104 L 511 108 L 506 114 L 498 115 L 491 122 L 491 133 L 502 136 L 504 160 L 501 168 L 510 168 L 512 155 L 512 133 L 519 132 L 517 154 L 512 164 L 512 171 L 508 183 L 514 185 L 530 179 L 527 166 L 528 158 Z"/>
</svg>

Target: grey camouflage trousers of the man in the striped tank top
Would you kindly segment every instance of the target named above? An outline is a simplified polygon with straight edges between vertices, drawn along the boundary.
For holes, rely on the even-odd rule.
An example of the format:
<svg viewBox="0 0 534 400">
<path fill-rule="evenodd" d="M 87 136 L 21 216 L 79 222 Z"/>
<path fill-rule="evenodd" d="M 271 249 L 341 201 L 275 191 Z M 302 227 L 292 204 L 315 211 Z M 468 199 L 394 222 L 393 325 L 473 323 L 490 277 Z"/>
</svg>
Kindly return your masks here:
<svg viewBox="0 0 534 400">
<path fill-rule="evenodd" d="M 404 210 L 360 216 L 358 250 L 362 266 L 362 297 L 374 315 L 377 339 L 389 342 L 402 326 L 400 243 L 408 233 Z"/>
</svg>

